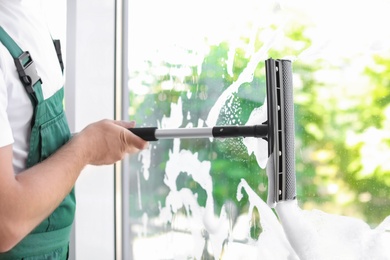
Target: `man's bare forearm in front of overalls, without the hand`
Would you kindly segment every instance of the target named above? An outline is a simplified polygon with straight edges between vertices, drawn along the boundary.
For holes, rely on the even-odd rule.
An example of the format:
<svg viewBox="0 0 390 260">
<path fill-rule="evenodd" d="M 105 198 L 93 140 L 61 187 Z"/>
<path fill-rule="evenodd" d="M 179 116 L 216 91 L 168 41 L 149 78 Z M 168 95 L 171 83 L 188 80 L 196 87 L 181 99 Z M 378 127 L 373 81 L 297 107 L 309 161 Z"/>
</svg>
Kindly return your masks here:
<svg viewBox="0 0 390 260">
<path fill-rule="evenodd" d="M 71 140 L 8 182 L 0 198 L 0 244 L 12 247 L 58 207 L 88 163 L 84 149 L 81 138 Z"/>
</svg>

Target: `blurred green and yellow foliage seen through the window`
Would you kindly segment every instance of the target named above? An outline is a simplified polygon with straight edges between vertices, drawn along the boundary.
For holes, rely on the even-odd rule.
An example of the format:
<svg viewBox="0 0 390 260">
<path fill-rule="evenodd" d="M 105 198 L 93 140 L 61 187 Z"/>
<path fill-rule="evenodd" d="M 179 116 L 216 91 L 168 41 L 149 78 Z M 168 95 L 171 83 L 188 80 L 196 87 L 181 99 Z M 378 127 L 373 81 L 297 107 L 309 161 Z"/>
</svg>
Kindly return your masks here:
<svg viewBox="0 0 390 260">
<path fill-rule="evenodd" d="M 298 56 L 311 45 L 305 30 L 304 26 L 291 26 L 284 36 L 283 47 L 269 50 L 269 57 Z M 142 84 L 148 86 L 149 91 L 139 96 L 131 91 L 137 86 L 130 86 L 130 118 L 141 126 L 159 126 L 163 117 L 170 117 L 171 104 L 181 100 L 183 121 L 180 127 L 205 126 L 202 123 L 218 97 L 237 80 L 250 61 L 251 55 L 247 53 L 250 48 L 246 47 L 253 44 L 258 51 L 264 45 L 260 38 L 252 43 L 243 37 L 240 47 L 234 50 L 228 42 L 211 46 L 200 69 L 195 65 L 148 61 L 148 70 L 139 75 L 148 76 L 149 81 Z M 234 59 L 229 68 L 231 51 Z M 355 86 L 340 87 L 337 80 L 318 77 L 319 73 L 329 75 L 328 79 L 340 75 L 340 70 L 351 63 L 346 60 L 342 65 L 334 65 L 324 59 L 310 64 L 301 60 L 293 63 L 298 200 L 306 209 L 317 208 L 378 224 L 390 215 L 390 56 L 372 57 L 372 63 L 355 74 L 368 84 L 356 90 Z M 158 67 L 166 68 L 166 73 L 155 74 Z M 173 73 L 178 69 L 189 69 L 191 73 L 183 79 Z M 139 75 L 131 77 L 142 78 Z M 170 90 L 163 88 L 167 83 L 172 86 Z M 232 102 L 227 101 L 217 124 L 245 124 L 252 110 L 262 105 L 265 96 L 264 64 L 259 63 L 253 81 L 240 86 Z M 378 136 L 370 136 L 370 133 Z M 373 143 L 374 137 L 380 140 Z M 144 212 L 156 215 L 159 203 L 164 204 L 168 189 L 163 178 L 172 145 L 172 140 L 151 143 L 147 180 L 142 177 L 139 158 L 132 158 L 132 216 L 138 217 Z M 246 212 L 248 202 L 245 199 L 237 202 L 235 198 L 241 178 L 266 200 L 265 170 L 257 165 L 253 154 L 248 155 L 241 138 L 212 142 L 209 139 L 182 140 L 180 145 L 181 149 L 198 153 L 200 161 L 211 162 L 216 214 L 226 201 L 234 201 L 240 212 Z M 365 151 L 372 153 L 366 161 Z M 387 160 L 383 159 L 386 156 Z M 368 164 L 374 166 L 367 168 Z M 186 173 L 179 176 L 177 185 L 179 189 L 187 187 L 196 192 L 199 204 L 205 205 L 204 190 Z"/>
</svg>

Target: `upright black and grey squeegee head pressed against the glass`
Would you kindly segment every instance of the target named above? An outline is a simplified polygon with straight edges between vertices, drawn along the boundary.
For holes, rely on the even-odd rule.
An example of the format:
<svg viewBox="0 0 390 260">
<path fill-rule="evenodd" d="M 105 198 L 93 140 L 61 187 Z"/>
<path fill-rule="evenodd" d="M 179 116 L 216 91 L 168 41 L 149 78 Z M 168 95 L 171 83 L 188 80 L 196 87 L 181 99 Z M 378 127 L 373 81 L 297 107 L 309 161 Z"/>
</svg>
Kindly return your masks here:
<svg viewBox="0 0 390 260">
<path fill-rule="evenodd" d="M 292 65 L 289 60 L 265 62 L 268 104 L 269 206 L 296 198 L 294 154 L 294 102 Z"/>
</svg>

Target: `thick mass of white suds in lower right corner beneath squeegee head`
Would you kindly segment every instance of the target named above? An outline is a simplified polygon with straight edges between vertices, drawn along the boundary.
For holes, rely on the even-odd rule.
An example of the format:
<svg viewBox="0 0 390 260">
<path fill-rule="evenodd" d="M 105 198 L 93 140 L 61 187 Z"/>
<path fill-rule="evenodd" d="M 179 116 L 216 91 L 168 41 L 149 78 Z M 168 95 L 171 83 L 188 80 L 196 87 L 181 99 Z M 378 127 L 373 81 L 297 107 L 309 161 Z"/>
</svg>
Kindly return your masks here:
<svg viewBox="0 0 390 260">
<path fill-rule="evenodd" d="M 302 210 L 296 201 L 277 204 L 276 212 L 300 259 L 390 259 L 387 217 L 372 229 L 360 219 Z"/>
</svg>

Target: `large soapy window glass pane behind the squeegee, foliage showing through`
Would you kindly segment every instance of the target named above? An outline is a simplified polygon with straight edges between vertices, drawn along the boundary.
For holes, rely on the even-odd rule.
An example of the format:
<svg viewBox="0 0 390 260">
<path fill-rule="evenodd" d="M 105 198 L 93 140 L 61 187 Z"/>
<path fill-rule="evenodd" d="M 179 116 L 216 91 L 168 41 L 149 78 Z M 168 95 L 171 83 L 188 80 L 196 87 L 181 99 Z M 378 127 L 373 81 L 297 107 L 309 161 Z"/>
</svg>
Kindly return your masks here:
<svg viewBox="0 0 390 260">
<path fill-rule="evenodd" d="M 389 7 L 130 0 L 139 127 L 261 124 L 264 61 L 292 61 L 297 187 L 297 205 L 267 206 L 261 138 L 151 142 L 129 159 L 133 259 L 390 255 Z"/>
</svg>

